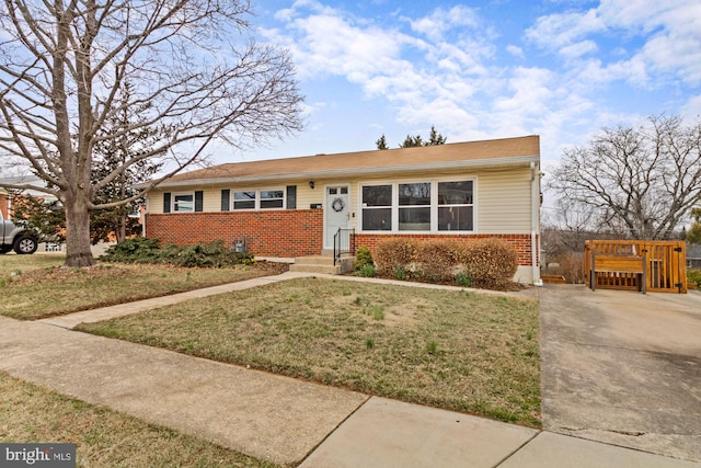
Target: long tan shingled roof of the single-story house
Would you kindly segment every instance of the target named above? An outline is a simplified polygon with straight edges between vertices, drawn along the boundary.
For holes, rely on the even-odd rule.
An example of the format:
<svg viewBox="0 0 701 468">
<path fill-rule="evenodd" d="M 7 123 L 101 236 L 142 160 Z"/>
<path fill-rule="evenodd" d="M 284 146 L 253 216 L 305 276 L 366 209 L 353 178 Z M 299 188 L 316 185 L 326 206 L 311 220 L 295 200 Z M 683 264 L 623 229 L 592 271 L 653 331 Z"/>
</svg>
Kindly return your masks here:
<svg viewBox="0 0 701 468">
<path fill-rule="evenodd" d="M 527 164 L 540 159 L 537 135 L 417 148 L 317 155 L 232 162 L 184 172 L 160 186 L 314 179 L 382 173 Z"/>
</svg>

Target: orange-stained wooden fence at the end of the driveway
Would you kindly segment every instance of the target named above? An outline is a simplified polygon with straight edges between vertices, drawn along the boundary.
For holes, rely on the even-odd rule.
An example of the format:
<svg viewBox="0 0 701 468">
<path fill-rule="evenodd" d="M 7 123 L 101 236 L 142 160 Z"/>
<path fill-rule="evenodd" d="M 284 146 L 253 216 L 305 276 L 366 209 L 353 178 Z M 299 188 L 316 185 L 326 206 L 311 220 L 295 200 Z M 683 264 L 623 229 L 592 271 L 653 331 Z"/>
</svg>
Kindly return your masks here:
<svg viewBox="0 0 701 468">
<path fill-rule="evenodd" d="M 588 240 L 584 259 L 591 289 L 687 293 L 682 241 Z"/>
</svg>

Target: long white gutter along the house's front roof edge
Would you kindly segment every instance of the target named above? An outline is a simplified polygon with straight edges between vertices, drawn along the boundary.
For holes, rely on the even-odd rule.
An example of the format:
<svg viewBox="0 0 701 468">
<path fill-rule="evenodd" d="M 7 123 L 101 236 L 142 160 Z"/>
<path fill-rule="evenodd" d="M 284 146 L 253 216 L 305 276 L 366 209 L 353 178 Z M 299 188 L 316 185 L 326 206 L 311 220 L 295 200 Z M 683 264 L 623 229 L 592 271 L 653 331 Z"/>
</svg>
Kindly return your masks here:
<svg viewBox="0 0 701 468">
<path fill-rule="evenodd" d="M 494 160 L 475 159 L 475 160 L 462 160 L 462 161 L 441 161 L 429 162 L 424 164 L 412 165 L 388 165 L 388 167 L 371 167 L 371 168 L 343 168 L 343 169 L 326 169 L 320 171 L 307 171 L 296 173 L 283 173 L 283 174 L 266 174 L 266 175 L 234 175 L 223 178 L 211 179 L 186 179 L 180 181 L 164 181 L 158 185 L 158 187 L 182 187 L 193 185 L 223 185 L 223 184 L 241 184 L 252 182 L 276 182 L 276 181 L 289 181 L 289 180 L 303 180 L 303 179 L 332 179 L 332 178 L 349 178 L 358 175 L 372 175 L 378 172 L 382 173 L 411 173 L 411 172 L 426 172 L 435 170 L 463 170 L 463 169 L 498 169 L 507 168 L 512 165 L 520 165 L 530 163 L 533 168 L 535 163 L 540 160 L 538 155 L 533 156 L 515 156 L 508 158 L 495 158 Z M 148 186 L 147 183 L 136 185 L 137 189 L 143 189 Z"/>
</svg>

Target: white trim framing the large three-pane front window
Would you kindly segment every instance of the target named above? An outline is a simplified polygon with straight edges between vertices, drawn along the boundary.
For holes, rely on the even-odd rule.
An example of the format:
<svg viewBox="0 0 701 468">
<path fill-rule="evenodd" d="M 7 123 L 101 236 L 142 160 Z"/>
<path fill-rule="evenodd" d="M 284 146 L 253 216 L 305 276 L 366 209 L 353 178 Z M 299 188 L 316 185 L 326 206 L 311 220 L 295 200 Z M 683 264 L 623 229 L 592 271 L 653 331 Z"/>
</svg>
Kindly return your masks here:
<svg viewBox="0 0 701 468">
<path fill-rule="evenodd" d="M 472 182 L 472 205 L 457 205 L 457 206 L 472 206 L 472 230 L 455 230 L 455 231 L 440 231 L 438 230 L 438 183 L 439 182 Z M 430 183 L 430 205 L 424 205 L 430 207 L 430 229 L 429 230 L 400 230 L 399 229 L 399 185 L 400 184 L 417 184 L 417 183 Z M 364 230 L 363 229 L 363 187 L 374 185 L 392 185 L 392 229 L 382 230 Z M 358 222 L 357 228 L 360 233 L 371 233 L 381 236 L 397 236 L 397 235 L 439 235 L 439 236 L 455 236 L 466 233 L 478 232 L 478 178 L 476 175 L 456 175 L 456 176 L 441 176 L 441 178 L 426 178 L 426 179 L 402 179 L 402 180 L 378 180 L 367 181 L 358 183 Z"/>
</svg>

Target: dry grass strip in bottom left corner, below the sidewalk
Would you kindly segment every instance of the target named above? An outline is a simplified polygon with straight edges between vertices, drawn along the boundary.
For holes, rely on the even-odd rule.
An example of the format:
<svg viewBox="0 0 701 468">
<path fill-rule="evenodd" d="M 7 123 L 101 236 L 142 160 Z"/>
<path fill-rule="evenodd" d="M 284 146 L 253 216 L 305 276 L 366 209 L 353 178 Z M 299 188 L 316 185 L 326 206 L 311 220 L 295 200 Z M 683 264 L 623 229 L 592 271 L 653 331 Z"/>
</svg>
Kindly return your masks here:
<svg viewBox="0 0 701 468">
<path fill-rule="evenodd" d="M 79 467 L 275 467 L 4 373 L 0 373 L 0 442 L 72 443 Z"/>
</svg>

